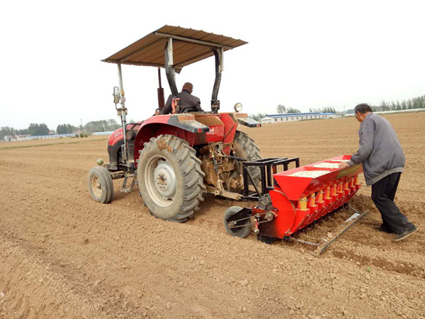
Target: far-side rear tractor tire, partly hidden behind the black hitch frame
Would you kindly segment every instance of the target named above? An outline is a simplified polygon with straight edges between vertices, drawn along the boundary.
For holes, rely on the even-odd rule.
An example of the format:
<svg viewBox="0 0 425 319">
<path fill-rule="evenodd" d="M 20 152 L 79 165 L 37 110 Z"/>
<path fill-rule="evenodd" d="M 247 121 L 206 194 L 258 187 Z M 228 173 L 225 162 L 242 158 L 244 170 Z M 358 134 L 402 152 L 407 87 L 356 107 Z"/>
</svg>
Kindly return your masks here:
<svg viewBox="0 0 425 319">
<path fill-rule="evenodd" d="M 260 148 L 255 144 L 252 138 L 246 133 L 243 133 L 239 130 L 236 131 L 234 135 L 234 150 L 236 151 L 237 156 L 252 161 L 254 159 L 261 159 Z M 259 185 L 261 181 L 261 170 L 259 167 L 249 167 L 248 168 L 251 177 L 254 179 L 255 184 Z M 249 181 L 249 184 L 252 184 Z"/>
</svg>

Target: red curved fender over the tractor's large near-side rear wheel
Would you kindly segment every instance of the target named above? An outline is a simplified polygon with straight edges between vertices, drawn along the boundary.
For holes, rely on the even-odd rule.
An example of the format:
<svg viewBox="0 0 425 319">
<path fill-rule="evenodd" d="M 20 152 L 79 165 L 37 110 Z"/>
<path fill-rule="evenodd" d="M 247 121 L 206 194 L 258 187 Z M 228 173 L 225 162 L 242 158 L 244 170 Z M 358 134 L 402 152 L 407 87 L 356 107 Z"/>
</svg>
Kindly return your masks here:
<svg viewBox="0 0 425 319">
<path fill-rule="evenodd" d="M 145 142 L 158 135 L 169 134 L 186 140 L 193 147 L 198 133 L 208 132 L 207 125 L 199 123 L 192 114 L 171 114 L 152 116 L 142 123 L 135 139 L 135 161 L 139 159 L 140 151 Z"/>
</svg>

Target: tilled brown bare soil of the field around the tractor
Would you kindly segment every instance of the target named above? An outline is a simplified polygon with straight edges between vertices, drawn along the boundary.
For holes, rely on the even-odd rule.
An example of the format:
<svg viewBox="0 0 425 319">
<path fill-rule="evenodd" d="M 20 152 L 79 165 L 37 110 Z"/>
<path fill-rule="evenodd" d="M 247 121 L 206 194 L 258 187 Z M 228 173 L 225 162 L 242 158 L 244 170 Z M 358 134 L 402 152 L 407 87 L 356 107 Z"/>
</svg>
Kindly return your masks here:
<svg viewBox="0 0 425 319">
<path fill-rule="evenodd" d="M 150 216 L 120 181 L 113 203 L 92 201 L 86 178 L 106 138 L 1 143 L 0 318 L 425 318 L 425 113 L 387 118 L 407 155 L 396 201 L 419 232 L 378 232 L 363 185 L 352 204 L 370 213 L 318 258 L 308 245 L 227 235 L 225 209 L 254 203 L 207 196 L 178 224 Z M 263 157 L 301 164 L 358 145 L 354 118 L 242 130 Z M 299 238 L 319 242 L 351 213 Z"/>
</svg>

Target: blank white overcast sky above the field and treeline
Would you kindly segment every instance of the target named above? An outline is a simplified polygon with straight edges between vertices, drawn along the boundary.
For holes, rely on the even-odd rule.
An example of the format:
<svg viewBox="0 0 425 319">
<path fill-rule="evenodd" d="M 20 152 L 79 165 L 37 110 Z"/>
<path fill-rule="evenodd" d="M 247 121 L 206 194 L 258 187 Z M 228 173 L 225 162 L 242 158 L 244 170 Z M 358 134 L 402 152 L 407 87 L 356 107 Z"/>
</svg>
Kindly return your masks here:
<svg viewBox="0 0 425 319">
<path fill-rule="evenodd" d="M 165 24 L 240 38 L 225 52 L 221 111 L 247 113 L 425 94 L 424 1 L 2 1 L 0 126 L 118 117 L 117 67 L 101 62 Z M 169 95 L 164 70 L 165 97 Z M 123 66 L 128 118 L 157 108 L 157 69 Z M 184 67 L 210 109 L 213 57 Z"/>
</svg>

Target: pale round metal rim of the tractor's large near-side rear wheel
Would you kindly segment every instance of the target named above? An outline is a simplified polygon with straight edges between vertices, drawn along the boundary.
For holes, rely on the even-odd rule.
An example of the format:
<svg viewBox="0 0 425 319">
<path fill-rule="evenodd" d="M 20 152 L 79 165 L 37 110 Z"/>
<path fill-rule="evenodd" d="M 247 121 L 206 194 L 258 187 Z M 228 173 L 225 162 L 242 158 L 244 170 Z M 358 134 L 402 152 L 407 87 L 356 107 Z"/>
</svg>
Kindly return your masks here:
<svg viewBox="0 0 425 319">
<path fill-rule="evenodd" d="M 176 172 L 162 156 L 152 157 L 147 162 L 145 184 L 150 198 L 158 206 L 168 207 L 176 198 Z"/>
</svg>

